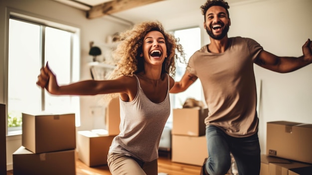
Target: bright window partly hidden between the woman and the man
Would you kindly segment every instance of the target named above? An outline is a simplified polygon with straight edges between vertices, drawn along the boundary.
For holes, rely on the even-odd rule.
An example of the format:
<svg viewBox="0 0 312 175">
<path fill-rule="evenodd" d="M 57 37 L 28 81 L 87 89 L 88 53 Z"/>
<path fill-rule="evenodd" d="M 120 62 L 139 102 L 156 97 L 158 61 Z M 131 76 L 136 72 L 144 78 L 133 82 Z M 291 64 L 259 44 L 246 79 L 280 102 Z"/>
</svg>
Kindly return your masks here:
<svg viewBox="0 0 312 175">
<path fill-rule="evenodd" d="M 174 30 L 173 34 L 176 38 L 180 39 L 180 44 L 183 46 L 184 52 L 186 54 L 185 59 L 188 62 L 188 59 L 192 54 L 199 50 L 201 47 L 200 39 L 200 28 L 193 27 L 187 29 Z M 186 65 L 180 62 L 176 63 L 176 73 L 174 80 L 180 81 L 182 76 L 185 73 Z M 182 108 L 184 101 L 187 98 L 195 98 L 196 100 L 203 100 L 203 93 L 201 88 L 201 83 L 199 79 L 195 81 L 188 89 L 184 92 L 177 94 L 170 94 L 171 99 L 171 108 Z M 171 112 L 172 116 L 172 112 Z M 169 117 L 168 122 L 172 122 L 172 117 Z"/>
</svg>

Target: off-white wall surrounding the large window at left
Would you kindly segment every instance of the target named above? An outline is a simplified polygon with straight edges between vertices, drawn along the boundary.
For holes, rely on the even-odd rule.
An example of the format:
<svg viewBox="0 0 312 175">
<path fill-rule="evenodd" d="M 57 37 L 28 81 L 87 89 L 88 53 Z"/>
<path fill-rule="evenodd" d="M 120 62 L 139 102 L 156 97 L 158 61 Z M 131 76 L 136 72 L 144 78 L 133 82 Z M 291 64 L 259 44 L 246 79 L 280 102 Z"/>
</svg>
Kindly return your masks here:
<svg viewBox="0 0 312 175">
<path fill-rule="evenodd" d="M 89 53 L 89 42 L 95 45 L 104 43 L 108 35 L 120 32 L 129 26 L 125 23 L 107 18 L 87 19 L 85 12 L 52 0 L 1 0 L 0 1 L 0 103 L 7 99 L 7 32 L 8 14 L 10 11 L 33 15 L 54 22 L 80 28 L 81 36 L 81 79 L 90 79 L 87 63 L 92 61 Z M 39 73 L 39 70 L 38 70 Z M 18 73 L 17 73 L 18 74 Z M 35 82 L 34 82 L 35 83 Z M 22 85 L 21 85 L 22 86 Z M 94 97 L 81 98 L 81 126 L 78 130 L 92 129 L 90 106 L 97 105 Z M 91 121 L 91 122 L 90 122 Z M 2 142 L 2 141 L 1 141 Z M 20 136 L 6 139 L 8 170 L 12 167 L 12 153 L 21 146 Z"/>
</svg>

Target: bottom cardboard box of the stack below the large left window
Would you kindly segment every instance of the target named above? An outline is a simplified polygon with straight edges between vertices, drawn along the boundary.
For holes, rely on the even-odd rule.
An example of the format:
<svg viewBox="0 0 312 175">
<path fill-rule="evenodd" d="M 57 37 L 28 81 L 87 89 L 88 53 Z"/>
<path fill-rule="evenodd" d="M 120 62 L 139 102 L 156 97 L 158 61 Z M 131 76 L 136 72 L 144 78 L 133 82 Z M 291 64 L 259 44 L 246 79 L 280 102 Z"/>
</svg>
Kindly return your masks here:
<svg viewBox="0 0 312 175">
<path fill-rule="evenodd" d="M 21 146 L 13 153 L 14 175 L 75 175 L 75 150 L 35 154 Z"/>
</svg>

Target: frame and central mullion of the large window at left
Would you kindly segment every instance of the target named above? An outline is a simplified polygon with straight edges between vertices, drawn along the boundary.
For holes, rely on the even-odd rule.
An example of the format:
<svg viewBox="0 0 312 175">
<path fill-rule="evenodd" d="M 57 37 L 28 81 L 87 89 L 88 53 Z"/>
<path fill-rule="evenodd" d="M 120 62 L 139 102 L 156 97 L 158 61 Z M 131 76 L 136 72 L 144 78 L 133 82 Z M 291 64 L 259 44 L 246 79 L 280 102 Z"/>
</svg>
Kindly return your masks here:
<svg viewBox="0 0 312 175">
<path fill-rule="evenodd" d="M 51 27 L 60 29 L 63 31 L 67 31 L 71 33 L 70 37 L 70 82 L 78 81 L 80 78 L 80 29 L 75 26 L 70 26 L 67 24 L 64 24 L 63 22 L 55 22 L 55 20 L 46 19 L 46 17 L 39 16 L 34 17 L 36 15 L 34 14 L 25 14 L 25 12 L 16 11 L 14 9 L 8 9 L 7 10 L 7 20 L 6 20 L 6 36 L 5 36 L 5 66 L 4 67 L 4 73 L 6 73 L 6 77 L 4 80 L 4 102 L 5 102 L 5 118 L 6 118 L 6 136 L 13 136 L 13 135 L 20 135 L 22 134 L 21 126 L 20 127 L 8 127 L 8 42 L 9 42 L 9 20 L 20 20 L 22 22 L 28 22 L 31 24 L 39 25 L 40 26 L 40 58 L 38 61 L 41 62 L 41 66 L 44 66 L 45 64 L 45 55 L 44 55 L 44 40 L 45 40 L 45 28 Z M 38 70 L 39 71 L 39 70 Z M 45 90 L 42 89 L 41 92 L 41 111 L 44 111 L 45 109 Z M 80 99 L 79 97 L 70 96 L 71 99 L 71 105 L 75 106 L 75 116 L 76 116 L 76 127 L 80 126 Z M 38 99 L 39 100 L 39 99 Z"/>
</svg>

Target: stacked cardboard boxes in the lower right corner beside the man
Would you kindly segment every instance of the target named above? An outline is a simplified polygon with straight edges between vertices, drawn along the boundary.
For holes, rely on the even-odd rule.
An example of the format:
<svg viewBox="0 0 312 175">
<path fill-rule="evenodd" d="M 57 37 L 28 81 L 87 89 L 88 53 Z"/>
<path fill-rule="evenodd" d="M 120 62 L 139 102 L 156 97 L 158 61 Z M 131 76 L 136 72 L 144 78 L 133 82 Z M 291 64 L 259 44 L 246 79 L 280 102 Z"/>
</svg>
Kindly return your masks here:
<svg viewBox="0 0 312 175">
<path fill-rule="evenodd" d="M 312 125 L 268 122 L 260 175 L 312 175 Z"/>
</svg>

